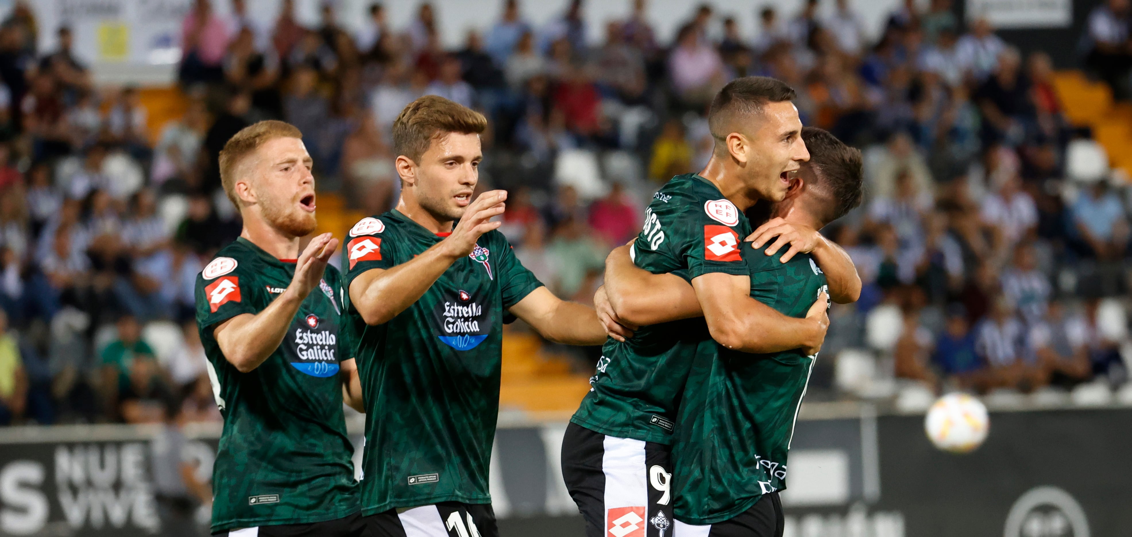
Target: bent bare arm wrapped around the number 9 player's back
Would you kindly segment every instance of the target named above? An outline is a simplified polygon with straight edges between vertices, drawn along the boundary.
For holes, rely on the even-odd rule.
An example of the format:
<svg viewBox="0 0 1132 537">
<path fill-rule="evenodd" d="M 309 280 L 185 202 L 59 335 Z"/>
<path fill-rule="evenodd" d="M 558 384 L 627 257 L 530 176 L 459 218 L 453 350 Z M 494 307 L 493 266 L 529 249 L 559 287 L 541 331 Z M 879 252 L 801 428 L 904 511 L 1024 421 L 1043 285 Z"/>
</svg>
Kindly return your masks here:
<svg viewBox="0 0 1132 537">
<path fill-rule="evenodd" d="M 703 317 L 692 285 L 679 276 L 637 267 L 627 245 L 606 258 L 606 295 L 617 318 L 636 326 Z"/>
</svg>

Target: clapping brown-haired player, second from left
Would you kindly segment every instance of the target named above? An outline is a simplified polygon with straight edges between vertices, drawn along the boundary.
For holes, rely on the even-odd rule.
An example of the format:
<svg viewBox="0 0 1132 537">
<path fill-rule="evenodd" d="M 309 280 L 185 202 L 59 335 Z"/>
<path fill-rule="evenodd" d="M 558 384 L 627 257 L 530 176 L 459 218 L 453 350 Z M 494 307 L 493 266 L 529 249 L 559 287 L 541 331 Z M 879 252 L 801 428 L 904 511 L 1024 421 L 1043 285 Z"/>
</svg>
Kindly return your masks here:
<svg viewBox="0 0 1132 537">
<path fill-rule="evenodd" d="M 393 123 L 401 200 L 358 222 L 343 250 L 374 535 L 498 535 L 488 465 L 511 315 L 551 341 L 606 340 L 593 309 L 554 296 L 496 231 L 506 192 L 472 200 L 486 128 L 443 97 L 409 104 Z"/>
</svg>

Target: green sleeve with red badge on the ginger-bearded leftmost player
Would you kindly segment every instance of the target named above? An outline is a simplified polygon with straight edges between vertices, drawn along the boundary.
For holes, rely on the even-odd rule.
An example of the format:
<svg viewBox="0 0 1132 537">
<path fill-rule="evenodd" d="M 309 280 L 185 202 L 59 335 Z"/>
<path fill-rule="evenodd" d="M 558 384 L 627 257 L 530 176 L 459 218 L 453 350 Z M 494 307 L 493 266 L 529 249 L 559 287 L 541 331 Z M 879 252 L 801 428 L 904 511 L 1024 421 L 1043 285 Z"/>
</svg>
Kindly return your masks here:
<svg viewBox="0 0 1132 537">
<path fill-rule="evenodd" d="M 228 271 L 209 270 L 212 267 L 226 267 L 229 262 L 234 267 Z M 206 275 L 212 277 L 206 278 Z M 214 259 L 197 275 L 197 323 L 212 327 L 235 315 L 258 313 L 254 296 L 266 291 L 255 282 L 256 275 L 248 267 L 237 265 L 231 258 Z"/>
</svg>

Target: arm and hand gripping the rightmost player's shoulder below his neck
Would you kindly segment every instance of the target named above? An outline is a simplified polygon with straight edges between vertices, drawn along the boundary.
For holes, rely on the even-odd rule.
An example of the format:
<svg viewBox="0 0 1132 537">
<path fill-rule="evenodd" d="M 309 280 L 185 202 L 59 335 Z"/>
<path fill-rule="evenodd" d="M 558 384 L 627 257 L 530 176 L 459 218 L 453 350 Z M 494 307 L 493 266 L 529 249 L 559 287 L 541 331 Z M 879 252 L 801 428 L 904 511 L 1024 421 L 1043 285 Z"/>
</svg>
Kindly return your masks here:
<svg viewBox="0 0 1132 537">
<path fill-rule="evenodd" d="M 774 240 L 774 237 L 778 240 Z M 774 243 L 763 250 L 767 255 L 773 255 L 787 243 L 789 250 L 782 254 L 780 260 L 787 262 L 796 253 L 809 253 L 814 255 L 817 266 L 825 272 L 825 280 L 830 286 L 830 300 L 838 304 L 857 302 L 860 298 L 860 276 L 857 267 L 849 258 L 849 252 L 829 240 L 813 227 L 786 222 L 782 218 L 771 218 L 765 224 L 758 226 L 748 237 L 752 248 L 761 248 L 763 244 L 774 240 Z"/>
</svg>

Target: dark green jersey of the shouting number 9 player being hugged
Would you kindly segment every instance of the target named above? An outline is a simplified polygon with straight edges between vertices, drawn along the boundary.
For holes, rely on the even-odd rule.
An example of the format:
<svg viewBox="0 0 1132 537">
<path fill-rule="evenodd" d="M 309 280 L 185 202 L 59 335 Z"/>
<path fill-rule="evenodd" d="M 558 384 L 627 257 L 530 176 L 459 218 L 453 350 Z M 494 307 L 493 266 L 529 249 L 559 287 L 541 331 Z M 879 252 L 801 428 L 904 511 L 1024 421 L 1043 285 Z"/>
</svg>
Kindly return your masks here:
<svg viewBox="0 0 1132 537">
<path fill-rule="evenodd" d="M 747 217 L 713 183 L 677 175 L 653 196 L 631 254 L 653 274 L 746 276 L 739 241 L 749 234 Z M 590 392 L 571 421 L 610 436 L 672 443 L 688 370 L 701 344 L 710 340 L 703 318 L 641 327 L 625 343 L 609 338 Z"/>
</svg>

